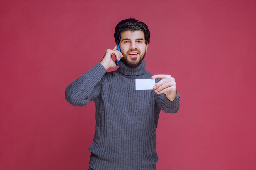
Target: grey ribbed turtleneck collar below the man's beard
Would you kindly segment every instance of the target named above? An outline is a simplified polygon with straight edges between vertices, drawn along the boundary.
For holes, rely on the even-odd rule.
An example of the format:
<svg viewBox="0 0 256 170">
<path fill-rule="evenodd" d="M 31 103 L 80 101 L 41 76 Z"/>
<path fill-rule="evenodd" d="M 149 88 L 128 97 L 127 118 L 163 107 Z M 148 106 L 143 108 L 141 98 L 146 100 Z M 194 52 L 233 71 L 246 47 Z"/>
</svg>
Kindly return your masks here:
<svg viewBox="0 0 256 170">
<path fill-rule="evenodd" d="M 123 75 L 128 75 L 128 76 L 143 75 L 144 73 L 146 73 L 145 65 L 146 65 L 146 62 L 142 60 L 139 66 L 132 68 L 127 64 L 125 64 L 122 60 L 120 60 L 119 68 L 117 69 L 117 71 Z"/>
</svg>

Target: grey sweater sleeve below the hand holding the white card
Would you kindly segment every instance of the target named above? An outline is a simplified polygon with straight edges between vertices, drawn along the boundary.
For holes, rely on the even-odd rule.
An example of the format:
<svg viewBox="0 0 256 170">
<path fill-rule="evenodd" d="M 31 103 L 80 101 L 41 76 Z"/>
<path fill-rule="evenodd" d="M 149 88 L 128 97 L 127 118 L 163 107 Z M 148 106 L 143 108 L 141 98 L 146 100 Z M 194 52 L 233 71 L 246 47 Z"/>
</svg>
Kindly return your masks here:
<svg viewBox="0 0 256 170">
<path fill-rule="evenodd" d="M 177 97 L 173 101 L 170 101 L 164 93 L 159 95 L 155 93 L 157 103 L 165 113 L 177 113 L 177 111 L 179 110 L 180 94 L 178 92 L 176 93 L 177 93 Z"/>
</svg>

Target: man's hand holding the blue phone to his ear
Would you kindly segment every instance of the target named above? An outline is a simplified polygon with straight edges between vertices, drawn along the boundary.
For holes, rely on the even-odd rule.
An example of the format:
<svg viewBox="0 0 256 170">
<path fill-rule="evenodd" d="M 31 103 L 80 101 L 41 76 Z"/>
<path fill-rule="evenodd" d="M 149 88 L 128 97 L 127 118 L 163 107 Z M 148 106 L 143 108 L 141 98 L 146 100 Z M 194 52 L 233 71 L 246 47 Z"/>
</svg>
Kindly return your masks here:
<svg viewBox="0 0 256 170">
<path fill-rule="evenodd" d="M 116 63 L 114 60 L 112 60 L 112 55 L 115 55 L 116 59 L 120 61 L 120 57 L 123 58 L 123 55 L 120 51 L 117 50 L 117 45 L 114 47 L 114 49 L 107 49 L 103 59 L 100 61 L 101 65 L 108 70 L 108 68 L 115 68 Z"/>
</svg>

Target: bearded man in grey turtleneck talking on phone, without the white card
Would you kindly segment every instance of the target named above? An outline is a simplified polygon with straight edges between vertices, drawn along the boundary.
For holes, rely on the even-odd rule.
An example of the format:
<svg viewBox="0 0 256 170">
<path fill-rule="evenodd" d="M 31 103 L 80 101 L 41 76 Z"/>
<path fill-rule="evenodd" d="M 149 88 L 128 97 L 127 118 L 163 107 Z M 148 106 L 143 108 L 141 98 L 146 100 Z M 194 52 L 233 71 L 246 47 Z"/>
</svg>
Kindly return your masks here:
<svg viewBox="0 0 256 170">
<path fill-rule="evenodd" d="M 180 96 L 171 75 L 152 76 L 145 69 L 148 26 L 135 19 L 119 22 L 115 42 L 99 63 L 66 88 L 70 104 L 96 106 L 96 129 L 89 167 L 92 170 L 155 170 L 157 121 L 160 110 L 176 113 Z M 116 71 L 112 60 L 119 62 Z M 120 60 L 121 57 L 121 60 Z M 154 90 L 135 90 L 135 79 L 157 79 Z"/>
</svg>

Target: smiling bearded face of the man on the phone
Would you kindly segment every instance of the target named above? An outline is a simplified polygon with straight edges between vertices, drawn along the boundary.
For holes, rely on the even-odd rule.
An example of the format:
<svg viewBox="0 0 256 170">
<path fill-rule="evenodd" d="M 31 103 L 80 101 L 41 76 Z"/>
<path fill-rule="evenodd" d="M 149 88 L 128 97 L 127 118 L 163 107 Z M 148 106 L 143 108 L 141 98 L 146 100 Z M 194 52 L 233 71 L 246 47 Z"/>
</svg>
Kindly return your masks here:
<svg viewBox="0 0 256 170">
<path fill-rule="evenodd" d="M 137 67 L 143 60 L 148 48 L 148 44 L 145 44 L 144 32 L 140 30 L 124 31 L 120 37 L 119 46 L 124 56 L 122 60 L 128 66 Z"/>
</svg>

